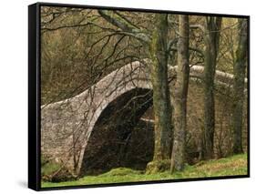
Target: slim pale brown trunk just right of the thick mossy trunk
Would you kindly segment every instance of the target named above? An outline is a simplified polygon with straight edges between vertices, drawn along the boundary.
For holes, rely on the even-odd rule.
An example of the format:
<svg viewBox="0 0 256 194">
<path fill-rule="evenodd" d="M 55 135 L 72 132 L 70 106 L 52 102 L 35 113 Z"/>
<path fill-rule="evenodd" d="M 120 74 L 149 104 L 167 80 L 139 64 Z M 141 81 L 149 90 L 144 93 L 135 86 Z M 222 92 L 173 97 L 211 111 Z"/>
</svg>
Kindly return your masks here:
<svg viewBox="0 0 256 194">
<path fill-rule="evenodd" d="M 187 97 L 189 88 L 189 15 L 179 15 L 178 69 L 174 91 L 174 140 L 171 171 L 182 170 L 185 162 Z"/>
</svg>

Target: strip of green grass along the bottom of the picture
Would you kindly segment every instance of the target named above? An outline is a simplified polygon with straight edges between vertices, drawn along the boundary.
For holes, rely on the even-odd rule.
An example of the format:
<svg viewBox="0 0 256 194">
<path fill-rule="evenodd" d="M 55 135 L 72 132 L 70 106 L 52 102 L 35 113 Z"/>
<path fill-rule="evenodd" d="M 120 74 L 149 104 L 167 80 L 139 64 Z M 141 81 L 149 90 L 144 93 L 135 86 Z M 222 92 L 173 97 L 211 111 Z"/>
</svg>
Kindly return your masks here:
<svg viewBox="0 0 256 194">
<path fill-rule="evenodd" d="M 156 174 L 145 174 L 144 171 L 130 168 L 114 168 L 98 176 L 86 176 L 67 182 L 42 182 L 43 188 L 106 184 L 119 182 L 134 182 L 164 179 L 209 178 L 221 176 L 247 175 L 247 155 L 236 155 L 230 158 L 220 158 L 200 162 L 194 166 L 186 166 L 184 171 L 170 174 L 169 171 Z"/>
</svg>

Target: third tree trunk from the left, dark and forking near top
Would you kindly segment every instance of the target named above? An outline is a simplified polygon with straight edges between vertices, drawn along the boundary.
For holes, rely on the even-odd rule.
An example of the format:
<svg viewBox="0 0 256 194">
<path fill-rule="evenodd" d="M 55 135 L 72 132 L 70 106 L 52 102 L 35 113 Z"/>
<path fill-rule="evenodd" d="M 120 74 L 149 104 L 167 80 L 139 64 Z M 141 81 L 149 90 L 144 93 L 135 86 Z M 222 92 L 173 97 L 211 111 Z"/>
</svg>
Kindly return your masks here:
<svg viewBox="0 0 256 194">
<path fill-rule="evenodd" d="M 213 157 L 215 128 L 214 77 L 220 41 L 221 17 L 206 17 L 204 67 L 204 145 L 203 157 Z"/>
</svg>

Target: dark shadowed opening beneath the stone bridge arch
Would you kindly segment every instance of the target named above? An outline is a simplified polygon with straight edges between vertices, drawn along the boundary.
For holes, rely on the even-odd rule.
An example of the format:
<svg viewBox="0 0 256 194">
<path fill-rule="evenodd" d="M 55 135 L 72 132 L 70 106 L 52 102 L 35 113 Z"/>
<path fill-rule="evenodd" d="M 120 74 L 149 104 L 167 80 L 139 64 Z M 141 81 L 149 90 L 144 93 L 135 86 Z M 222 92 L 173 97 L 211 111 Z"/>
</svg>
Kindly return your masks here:
<svg viewBox="0 0 256 194">
<path fill-rule="evenodd" d="M 153 103 L 151 89 L 136 87 L 102 111 L 88 139 L 80 175 L 111 168 L 146 168 L 153 158 L 154 126 L 140 118 Z"/>
</svg>

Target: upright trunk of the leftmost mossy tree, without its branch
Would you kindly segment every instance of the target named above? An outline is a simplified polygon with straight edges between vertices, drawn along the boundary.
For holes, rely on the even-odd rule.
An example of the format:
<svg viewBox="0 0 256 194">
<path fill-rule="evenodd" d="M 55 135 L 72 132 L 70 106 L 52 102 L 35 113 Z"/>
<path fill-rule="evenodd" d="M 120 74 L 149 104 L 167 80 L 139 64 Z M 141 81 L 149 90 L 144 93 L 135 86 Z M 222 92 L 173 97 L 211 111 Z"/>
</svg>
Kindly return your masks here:
<svg viewBox="0 0 256 194">
<path fill-rule="evenodd" d="M 156 14 L 155 28 L 150 45 L 151 81 L 155 116 L 155 150 L 153 161 L 148 163 L 148 171 L 158 171 L 160 160 L 170 158 L 171 150 L 171 108 L 168 83 L 168 15 Z M 154 169 L 152 169 L 154 168 Z"/>
</svg>

